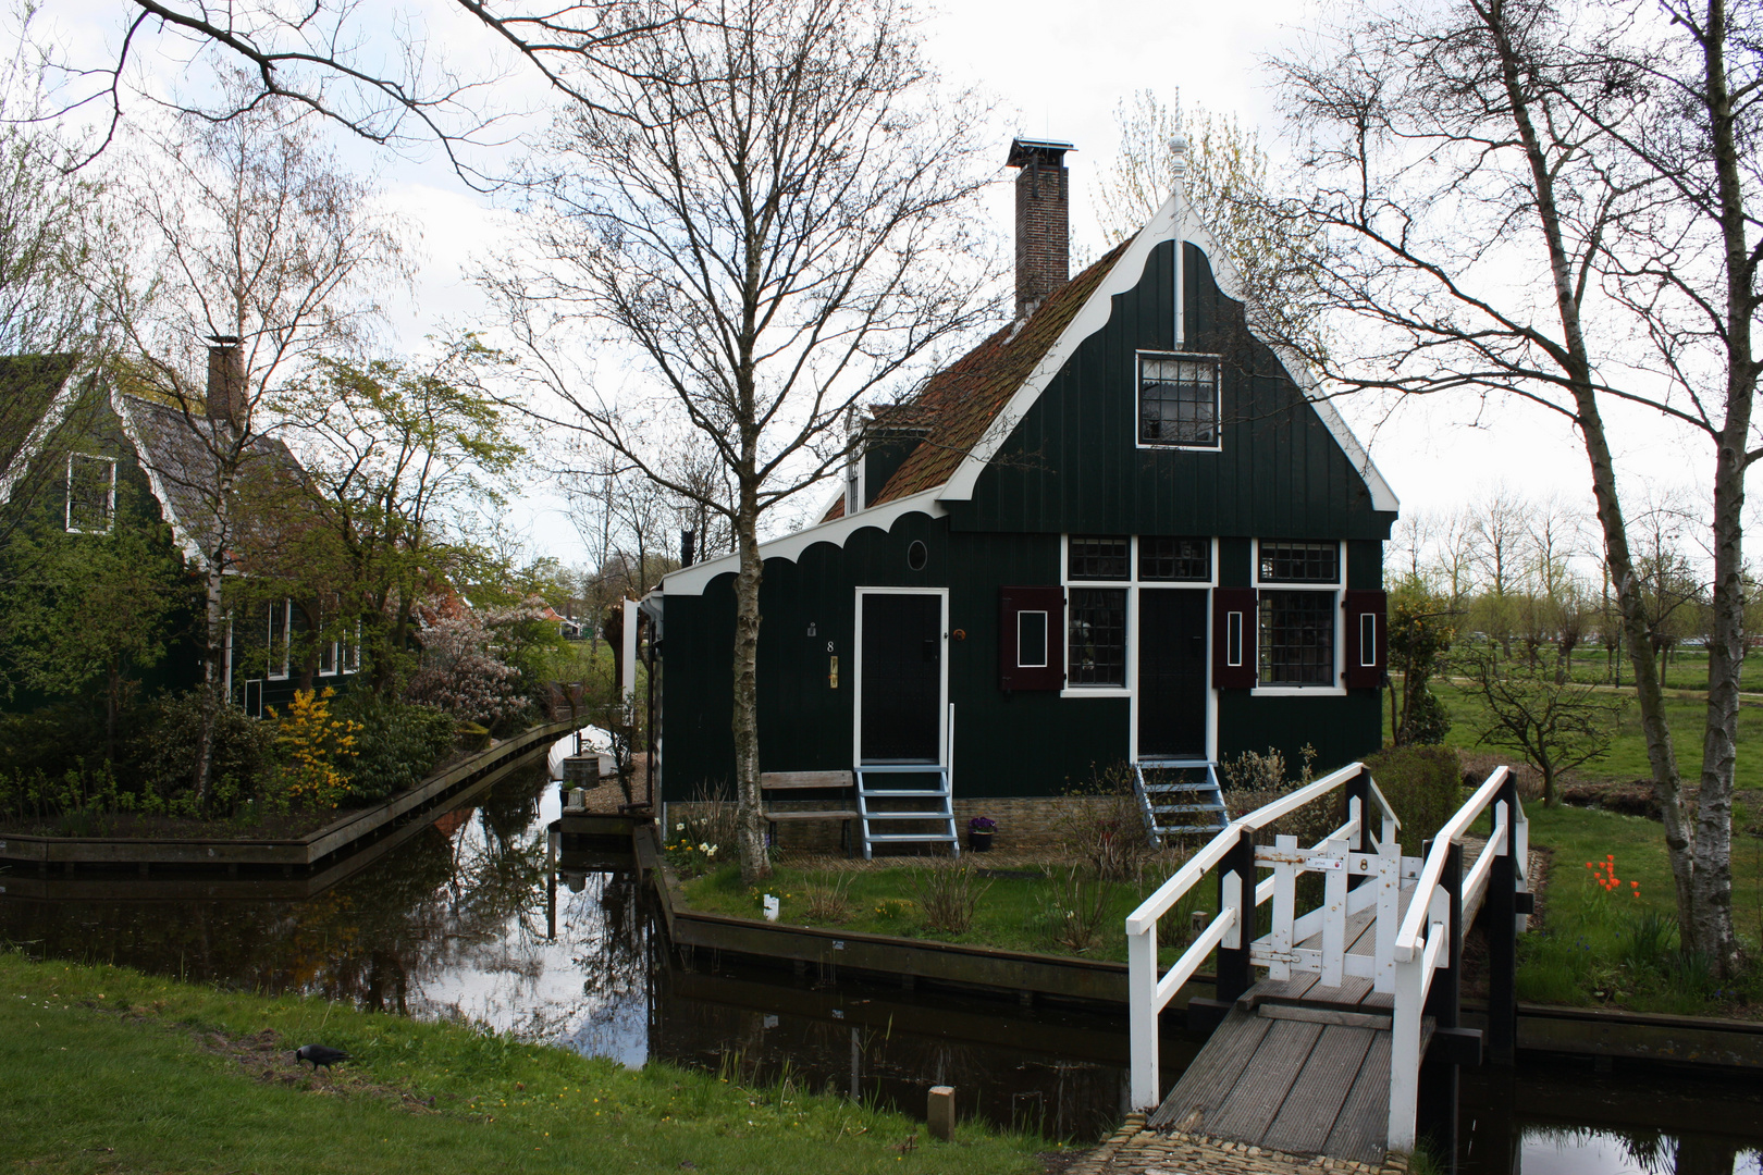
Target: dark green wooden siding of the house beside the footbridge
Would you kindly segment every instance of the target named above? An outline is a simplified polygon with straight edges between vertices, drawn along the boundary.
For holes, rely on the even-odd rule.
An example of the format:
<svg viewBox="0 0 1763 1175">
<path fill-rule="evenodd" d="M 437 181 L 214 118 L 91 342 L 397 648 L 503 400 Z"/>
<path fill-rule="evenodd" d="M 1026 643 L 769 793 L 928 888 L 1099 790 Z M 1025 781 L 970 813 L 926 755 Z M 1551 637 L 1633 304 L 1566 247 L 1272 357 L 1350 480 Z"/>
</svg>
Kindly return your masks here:
<svg viewBox="0 0 1763 1175">
<path fill-rule="evenodd" d="M 1273 352 L 1243 329 L 1199 248 L 1186 252 L 1188 351 L 1225 356 L 1222 449 L 1139 449 L 1137 352 L 1174 345 L 1174 245 L 1158 245 L 1137 285 L 1112 299 L 1084 340 L 947 518 L 899 518 L 843 548 L 767 560 L 760 594 L 762 770 L 850 768 L 853 757 L 859 587 L 948 588 L 948 698 L 956 706 L 956 791 L 1045 796 L 1123 763 L 1125 698 L 1005 694 L 998 687 L 998 590 L 1058 585 L 1061 534 L 1216 536 L 1218 581 L 1253 583 L 1252 539 L 1347 539 L 1347 587 L 1379 587 L 1393 513 L 1370 490 Z M 889 454 L 892 460 L 892 454 Z M 871 470 L 874 476 L 878 470 Z M 924 541 L 922 571 L 906 550 Z M 733 777 L 733 576 L 665 602 L 663 798 L 689 800 Z M 809 636 L 813 624 L 813 636 Z M 1128 632 L 1128 641 L 1137 634 Z M 1345 639 L 1342 636 L 1342 639 Z M 832 650 L 827 648 L 829 641 Z M 829 659 L 839 657 L 839 685 Z M 1324 772 L 1379 747 L 1380 691 L 1347 696 L 1218 696 L 1218 750 L 1301 750 Z"/>
</svg>

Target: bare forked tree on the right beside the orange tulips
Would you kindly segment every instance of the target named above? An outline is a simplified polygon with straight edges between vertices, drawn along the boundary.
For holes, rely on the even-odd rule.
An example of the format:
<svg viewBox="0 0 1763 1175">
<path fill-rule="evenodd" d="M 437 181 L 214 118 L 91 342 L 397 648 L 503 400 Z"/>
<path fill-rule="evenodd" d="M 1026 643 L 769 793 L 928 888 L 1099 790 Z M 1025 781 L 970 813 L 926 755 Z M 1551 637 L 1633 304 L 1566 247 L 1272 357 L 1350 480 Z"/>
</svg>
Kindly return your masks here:
<svg viewBox="0 0 1763 1175">
<path fill-rule="evenodd" d="M 1731 506 L 1730 518 L 1715 511 L 1733 588 L 1722 599 L 1737 599 L 1737 504 L 1758 370 L 1751 160 L 1738 144 L 1763 92 L 1751 83 L 1754 53 L 1722 56 L 1740 42 L 1724 4 L 1666 12 L 1675 25 L 1650 7 L 1458 0 L 1391 5 L 1328 28 L 1276 63 L 1303 144 L 1303 196 L 1285 208 L 1328 240 L 1326 264 L 1308 271 L 1313 296 L 1370 329 L 1370 345 L 1352 354 L 1312 351 L 1326 375 L 1349 389 L 1516 396 L 1580 433 L 1685 946 L 1728 969 L 1737 964 L 1726 865 L 1737 659 L 1728 684 L 1710 691 L 1712 766 L 1692 830 L 1604 421 L 1622 400 L 1715 440 L 1719 500 Z M 1751 32 L 1744 42 L 1754 44 Z M 1654 132 L 1671 127 L 1675 136 Z M 1698 236 L 1680 227 L 1675 204 L 1685 196 L 1717 229 L 1712 271 L 1700 264 Z M 1682 262 L 1671 289 L 1685 305 L 1700 299 L 1710 331 L 1731 340 L 1700 416 L 1682 407 L 1687 375 L 1673 382 L 1643 370 L 1634 340 L 1675 329 L 1645 298 L 1647 280 L 1666 289 L 1671 266 L 1647 257 Z M 1733 641 L 1740 625 L 1730 608 Z"/>
</svg>

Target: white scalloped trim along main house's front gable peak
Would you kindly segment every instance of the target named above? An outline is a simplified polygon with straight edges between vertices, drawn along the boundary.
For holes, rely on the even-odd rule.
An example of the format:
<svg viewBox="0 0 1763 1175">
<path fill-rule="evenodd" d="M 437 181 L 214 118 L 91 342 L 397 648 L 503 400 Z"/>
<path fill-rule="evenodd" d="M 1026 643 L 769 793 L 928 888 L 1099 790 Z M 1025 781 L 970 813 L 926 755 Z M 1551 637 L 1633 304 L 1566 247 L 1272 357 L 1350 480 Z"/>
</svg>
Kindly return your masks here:
<svg viewBox="0 0 1763 1175">
<path fill-rule="evenodd" d="M 1090 301 L 1077 312 L 1067 326 L 1060 338 L 1047 349 L 1040 363 L 1030 372 L 1023 386 L 1015 389 L 1010 396 L 1010 403 L 993 419 L 991 426 L 980 437 L 964 458 L 956 472 L 943 483 L 940 500 L 957 502 L 973 497 L 973 486 L 978 483 L 980 472 L 986 465 L 998 456 L 998 449 L 1003 442 L 1010 439 L 1015 426 L 1028 414 L 1028 410 L 1040 400 L 1040 393 L 1047 389 L 1053 377 L 1060 373 L 1065 361 L 1075 354 L 1077 345 L 1086 338 L 1095 335 L 1098 329 L 1107 326 L 1109 317 L 1114 314 L 1114 294 L 1123 294 L 1139 284 L 1144 275 L 1146 261 L 1151 255 L 1151 248 L 1162 245 L 1164 241 L 1186 241 L 1199 247 L 1206 254 L 1206 259 L 1213 268 L 1213 280 L 1218 284 L 1218 291 L 1227 298 L 1232 298 L 1246 308 L 1250 321 L 1253 322 L 1255 307 L 1243 292 L 1243 278 L 1231 264 L 1231 259 L 1218 241 L 1202 224 L 1186 224 L 1186 208 L 1183 201 L 1181 181 L 1176 181 L 1176 188 L 1164 201 L 1164 206 L 1157 210 L 1157 215 L 1139 234 L 1132 238 L 1132 245 L 1114 261 L 1114 266 L 1097 285 L 1095 292 L 1090 294 Z M 1179 328 L 1178 328 L 1179 333 Z M 1320 418 L 1322 426 L 1329 430 L 1335 437 L 1335 444 L 1340 446 L 1347 462 L 1354 467 L 1354 472 L 1365 481 L 1366 490 L 1372 493 L 1372 509 L 1375 511 L 1396 511 L 1400 509 L 1400 500 L 1389 483 L 1384 481 L 1384 474 L 1379 472 L 1377 465 L 1372 463 L 1372 454 L 1366 453 L 1365 446 L 1352 433 L 1352 428 L 1342 418 L 1340 410 L 1335 407 L 1333 400 L 1322 391 L 1315 381 L 1315 373 L 1308 365 L 1299 361 L 1299 358 L 1289 347 L 1273 347 L 1275 356 L 1291 375 L 1292 382 L 1305 393 L 1310 407 L 1315 409 L 1317 418 Z"/>
</svg>

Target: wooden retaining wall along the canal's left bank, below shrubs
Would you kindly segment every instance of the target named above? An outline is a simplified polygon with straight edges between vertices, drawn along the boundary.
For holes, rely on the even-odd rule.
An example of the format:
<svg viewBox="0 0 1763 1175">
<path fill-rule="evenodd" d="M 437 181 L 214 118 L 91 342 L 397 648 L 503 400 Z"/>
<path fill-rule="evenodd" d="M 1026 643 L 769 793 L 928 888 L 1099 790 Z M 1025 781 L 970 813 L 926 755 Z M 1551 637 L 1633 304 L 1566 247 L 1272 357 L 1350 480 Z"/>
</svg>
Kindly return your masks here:
<svg viewBox="0 0 1763 1175">
<path fill-rule="evenodd" d="M 575 729 L 573 722 L 547 722 L 481 750 L 444 772 L 430 775 L 416 787 L 391 796 L 384 803 L 351 812 L 305 837 L 286 839 L 222 839 L 222 837 L 19 837 L 0 833 L 0 861 L 12 865 L 5 881 L 9 893 L 23 893 L 19 868 L 39 876 L 51 868 L 74 872 L 79 867 L 139 867 L 139 868 L 321 868 L 363 842 L 379 839 L 413 817 L 446 800 L 458 800 L 502 779 L 543 756 L 562 735 Z M 390 846 L 386 846 L 390 847 Z M 377 856 L 377 854 L 376 854 Z M 354 865 L 351 860 L 349 865 Z M 349 870 L 353 872 L 353 868 Z M 331 877 L 326 884 L 335 884 Z"/>
</svg>

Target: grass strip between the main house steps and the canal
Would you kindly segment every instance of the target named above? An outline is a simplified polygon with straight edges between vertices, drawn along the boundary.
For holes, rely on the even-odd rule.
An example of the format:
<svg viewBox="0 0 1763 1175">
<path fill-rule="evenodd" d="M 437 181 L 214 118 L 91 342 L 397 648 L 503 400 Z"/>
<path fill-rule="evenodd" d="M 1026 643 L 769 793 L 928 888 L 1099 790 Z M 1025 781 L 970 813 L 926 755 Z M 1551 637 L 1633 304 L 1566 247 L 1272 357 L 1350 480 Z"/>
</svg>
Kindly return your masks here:
<svg viewBox="0 0 1763 1175">
<path fill-rule="evenodd" d="M 836 927 L 859 934 L 889 934 L 904 939 L 936 939 L 1010 951 L 1127 962 L 1127 935 L 1121 923 L 1174 870 L 1172 861 L 1165 868 L 1146 870 L 1141 886 L 1116 881 L 1097 883 L 1088 867 L 1079 872 L 1074 883 L 1068 870 L 1058 865 L 1047 867 L 1042 874 L 1040 868 L 986 870 L 971 858 L 963 858 L 963 861 L 975 867 L 971 877 L 978 897 L 973 902 L 971 925 L 959 934 L 936 932 L 927 925 L 926 895 L 922 893 L 929 872 L 926 867 L 841 870 L 837 865 L 816 865 L 804 870 L 783 863 L 763 890 L 781 898 L 779 921 L 802 927 Z M 987 877 L 986 872 L 1037 876 Z M 827 909 L 825 897 L 820 898 L 820 909 L 815 909 L 811 898 L 815 890 L 825 893 L 832 886 L 841 888 L 843 914 L 837 909 Z M 693 909 L 709 914 L 763 918 L 760 891 L 740 884 L 740 868 L 735 865 L 725 865 L 682 883 L 681 893 Z M 1174 927 L 1185 927 L 1192 909 L 1211 909 L 1216 904 L 1215 898 L 1216 883 L 1209 877 L 1201 879 L 1188 890 L 1176 911 L 1165 916 L 1164 935 L 1169 937 Z M 1081 944 L 1084 944 L 1082 950 L 1079 950 Z M 1179 955 L 1172 946 L 1164 948 L 1162 953 L 1165 960 L 1174 960 Z"/>
</svg>

